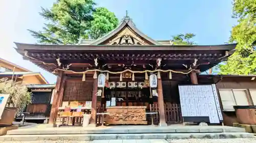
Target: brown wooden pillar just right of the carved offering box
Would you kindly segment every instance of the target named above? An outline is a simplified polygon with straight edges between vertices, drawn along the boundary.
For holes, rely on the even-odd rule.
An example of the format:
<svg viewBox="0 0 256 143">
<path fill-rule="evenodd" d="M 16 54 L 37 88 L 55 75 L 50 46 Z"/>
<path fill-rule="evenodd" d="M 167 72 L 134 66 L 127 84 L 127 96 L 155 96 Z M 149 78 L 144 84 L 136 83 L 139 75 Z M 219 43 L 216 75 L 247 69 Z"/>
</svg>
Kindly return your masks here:
<svg viewBox="0 0 256 143">
<path fill-rule="evenodd" d="M 159 72 L 159 74 L 161 74 Z M 158 93 L 158 107 L 159 107 L 159 114 L 160 114 L 160 122 L 159 126 L 167 126 L 165 122 L 165 109 L 164 109 L 164 102 L 163 102 L 163 87 L 162 87 L 162 79 L 157 79 L 157 93 Z"/>
</svg>

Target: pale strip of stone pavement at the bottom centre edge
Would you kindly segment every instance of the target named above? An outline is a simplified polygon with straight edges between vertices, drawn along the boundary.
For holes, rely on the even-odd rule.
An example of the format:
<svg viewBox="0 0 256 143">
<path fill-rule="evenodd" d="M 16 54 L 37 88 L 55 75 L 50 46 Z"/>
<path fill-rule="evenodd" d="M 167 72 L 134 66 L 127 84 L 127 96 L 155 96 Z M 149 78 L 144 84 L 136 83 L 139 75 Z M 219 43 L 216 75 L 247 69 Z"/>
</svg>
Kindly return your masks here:
<svg viewBox="0 0 256 143">
<path fill-rule="evenodd" d="M 111 139 L 93 140 L 91 143 L 168 143 L 165 139 Z"/>
</svg>

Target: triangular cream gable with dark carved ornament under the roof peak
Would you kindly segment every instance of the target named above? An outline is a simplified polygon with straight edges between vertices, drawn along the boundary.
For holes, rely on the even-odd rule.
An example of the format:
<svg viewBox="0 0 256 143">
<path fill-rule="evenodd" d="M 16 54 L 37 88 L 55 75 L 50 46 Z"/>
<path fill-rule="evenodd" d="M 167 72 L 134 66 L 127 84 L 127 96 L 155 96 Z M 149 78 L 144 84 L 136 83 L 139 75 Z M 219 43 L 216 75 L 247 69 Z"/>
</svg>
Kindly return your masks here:
<svg viewBox="0 0 256 143">
<path fill-rule="evenodd" d="M 149 45 L 142 40 L 129 27 L 125 27 L 116 37 L 107 43 L 107 45 Z"/>
</svg>

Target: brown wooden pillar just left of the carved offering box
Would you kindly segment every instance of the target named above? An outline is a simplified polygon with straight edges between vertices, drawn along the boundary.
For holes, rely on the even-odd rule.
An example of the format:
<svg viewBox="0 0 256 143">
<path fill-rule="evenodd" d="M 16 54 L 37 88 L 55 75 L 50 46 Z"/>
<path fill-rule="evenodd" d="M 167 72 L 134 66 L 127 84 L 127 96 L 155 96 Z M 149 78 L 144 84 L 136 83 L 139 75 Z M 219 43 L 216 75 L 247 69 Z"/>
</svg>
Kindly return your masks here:
<svg viewBox="0 0 256 143">
<path fill-rule="evenodd" d="M 92 95 L 92 109 L 90 126 L 96 126 L 96 113 L 97 113 L 97 92 L 98 92 L 98 79 L 93 81 L 93 95 Z"/>
</svg>

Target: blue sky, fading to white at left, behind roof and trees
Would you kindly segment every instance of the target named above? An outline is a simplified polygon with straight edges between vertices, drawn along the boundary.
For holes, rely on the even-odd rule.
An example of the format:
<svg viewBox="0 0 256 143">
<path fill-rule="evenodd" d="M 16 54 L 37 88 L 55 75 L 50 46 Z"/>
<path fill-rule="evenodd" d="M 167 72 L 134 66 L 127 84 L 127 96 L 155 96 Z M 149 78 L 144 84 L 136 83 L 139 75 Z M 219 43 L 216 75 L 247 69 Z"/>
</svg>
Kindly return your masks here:
<svg viewBox="0 0 256 143">
<path fill-rule="evenodd" d="M 22 59 L 13 42 L 35 43 L 27 29 L 41 30 L 44 19 L 38 14 L 41 7 L 50 8 L 55 0 L 1 0 L 0 57 L 32 71 L 41 72 L 50 83 L 56 77 L 29 61 Z M 232 0 L 98 0 L 121 19 L 127 10 L 136 26 L 156 40 L 168 40 L 180 33 L 194 33 L 199 45 L 224 44 L 232 26 Z"/>
</svg>

